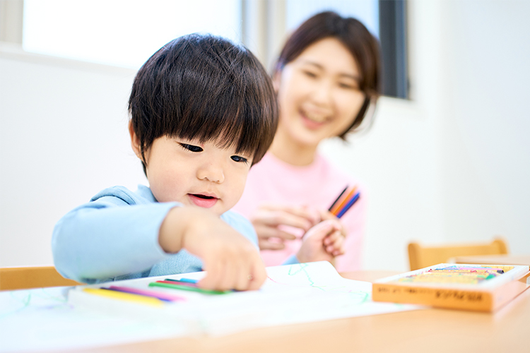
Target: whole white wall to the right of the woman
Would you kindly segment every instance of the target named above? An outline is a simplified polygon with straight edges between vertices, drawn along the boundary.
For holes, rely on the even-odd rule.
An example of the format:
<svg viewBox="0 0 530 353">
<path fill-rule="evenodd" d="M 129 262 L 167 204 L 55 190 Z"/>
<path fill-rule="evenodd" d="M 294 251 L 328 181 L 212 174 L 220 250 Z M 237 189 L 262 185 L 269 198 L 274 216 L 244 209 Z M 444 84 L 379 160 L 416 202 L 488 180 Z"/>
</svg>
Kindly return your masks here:
<svg viewBox="0 0 530 353">
<path fill-rule="evenodd" d="M 324 148 L 370 186 L 365 268 L 408 268 L 412 239 L 528 254 L 530 1 L 409 5 L 413 102 L 383 98 L 370 133 Z"/>
</svg>

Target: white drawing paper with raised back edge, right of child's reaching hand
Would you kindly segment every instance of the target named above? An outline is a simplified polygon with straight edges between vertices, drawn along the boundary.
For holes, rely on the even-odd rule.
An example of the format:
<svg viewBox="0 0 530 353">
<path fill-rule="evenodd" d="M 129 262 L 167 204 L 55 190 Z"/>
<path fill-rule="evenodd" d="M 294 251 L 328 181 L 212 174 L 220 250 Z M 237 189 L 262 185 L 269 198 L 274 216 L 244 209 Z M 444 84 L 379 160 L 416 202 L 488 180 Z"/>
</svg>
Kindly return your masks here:
<svg viewBox="0 0 530 353">
<path fill-rule="evenodd" d="M 205 332 L 225 335 L 271 325 L 424 308 L 376 303 L 371 299 L 370 282 L 346 280 L 325 261 L 271 267 L 267 273 L 259 291 L 217 296 L 198 306 L 196 312 Z"/>
</svg>

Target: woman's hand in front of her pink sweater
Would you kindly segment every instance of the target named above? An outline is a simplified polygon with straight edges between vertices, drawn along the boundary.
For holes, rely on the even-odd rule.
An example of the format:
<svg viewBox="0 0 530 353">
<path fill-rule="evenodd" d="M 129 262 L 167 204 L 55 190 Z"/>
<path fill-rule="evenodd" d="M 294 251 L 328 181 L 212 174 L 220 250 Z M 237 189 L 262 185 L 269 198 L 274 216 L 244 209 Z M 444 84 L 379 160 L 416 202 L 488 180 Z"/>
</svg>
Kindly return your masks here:
<svg viewBox="0 0 530 353">
<path fill-rule="evenodd" d="M 281 250 L 285 247 L 285 240 L 296 238 L 295 234 L 282 229 L 283 226 L 302 229 L 305 233 L 320 222 L 321 216 L 317 210 L 306 206 L 264 203 L 250 220 L 258 235 L 259 249 Z"/>
</svg>

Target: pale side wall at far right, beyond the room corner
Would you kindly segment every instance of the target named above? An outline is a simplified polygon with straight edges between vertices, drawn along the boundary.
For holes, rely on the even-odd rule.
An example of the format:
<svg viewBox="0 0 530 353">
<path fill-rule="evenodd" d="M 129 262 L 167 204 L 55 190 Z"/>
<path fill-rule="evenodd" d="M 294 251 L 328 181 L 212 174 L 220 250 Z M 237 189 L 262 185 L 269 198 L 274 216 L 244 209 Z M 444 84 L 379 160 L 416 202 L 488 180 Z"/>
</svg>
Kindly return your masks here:
<svg viewBox="0 0 530 353">
<path fill-rule="evenodd" d="M 530 1 L 444 7 L 447 240 L 503 234 L 530 253 Z"/>
</svg>

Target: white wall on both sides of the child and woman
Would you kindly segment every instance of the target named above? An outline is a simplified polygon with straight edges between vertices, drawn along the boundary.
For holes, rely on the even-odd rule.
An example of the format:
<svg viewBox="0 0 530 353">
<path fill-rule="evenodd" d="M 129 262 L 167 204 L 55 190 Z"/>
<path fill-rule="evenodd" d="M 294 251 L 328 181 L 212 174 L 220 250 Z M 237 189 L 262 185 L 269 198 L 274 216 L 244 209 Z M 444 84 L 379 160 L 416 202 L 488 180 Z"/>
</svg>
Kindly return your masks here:
<svg viewBox="0 0 530 353">
<path fill-rule="evenodd" d="M 410 1 L 413 101 L 332 160 L 370 187 L 365 268 L 406 244 L 504 234 L 530 253 L 530 1 Z M 126 133 L 134 72 L 0 50 L 0 266 L 52 263 L 55 222 L 107 186 L 144 183 Z"/>
</svg>

